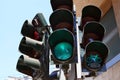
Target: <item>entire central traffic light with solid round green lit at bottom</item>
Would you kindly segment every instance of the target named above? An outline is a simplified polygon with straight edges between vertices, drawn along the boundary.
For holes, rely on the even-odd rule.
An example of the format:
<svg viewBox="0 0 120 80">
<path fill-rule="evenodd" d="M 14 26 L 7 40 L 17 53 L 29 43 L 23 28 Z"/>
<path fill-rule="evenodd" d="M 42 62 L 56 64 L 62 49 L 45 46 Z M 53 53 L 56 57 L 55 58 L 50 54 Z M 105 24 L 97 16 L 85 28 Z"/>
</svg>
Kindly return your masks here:
<svg viewBox="0 0 120 80">
<path fill-rule="evenodd" d="M 49 21 L 53 30 L 48 43 L 55 64 L 74 62 L 75 32 L 72 0 L 51 0 L 53 13 Z"/>
</svg>

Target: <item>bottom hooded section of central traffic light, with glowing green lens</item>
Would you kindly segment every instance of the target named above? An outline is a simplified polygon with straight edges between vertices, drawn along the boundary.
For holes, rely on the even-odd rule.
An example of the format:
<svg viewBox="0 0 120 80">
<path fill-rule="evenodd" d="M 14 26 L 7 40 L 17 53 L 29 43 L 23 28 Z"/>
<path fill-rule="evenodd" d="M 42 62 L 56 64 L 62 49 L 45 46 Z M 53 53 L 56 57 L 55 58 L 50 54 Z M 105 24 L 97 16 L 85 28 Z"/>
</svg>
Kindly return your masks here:
<svg viewBox="0 0 120 80">
<path fill-rule="evenodd" d="M 53 59 L 58 63 L 69 62 L 74 52 L 74 36 L 67 29 L 55 30 L 49 37 Z"/>
</svg>

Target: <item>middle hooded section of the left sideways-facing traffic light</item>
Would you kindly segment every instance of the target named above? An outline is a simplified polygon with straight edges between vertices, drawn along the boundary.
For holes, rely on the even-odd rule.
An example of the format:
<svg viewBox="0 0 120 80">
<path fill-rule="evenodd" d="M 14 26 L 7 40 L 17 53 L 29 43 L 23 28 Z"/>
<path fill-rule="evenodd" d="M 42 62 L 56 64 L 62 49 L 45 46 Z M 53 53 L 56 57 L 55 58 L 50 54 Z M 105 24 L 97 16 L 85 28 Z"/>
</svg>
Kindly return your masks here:
<svg viewBox="0 0 120 80">
<path fill-rule="evenodd" d="M 19 45 L 19 50 L 29 57 L 39 59 L 40 55 L 42 55 L 42 50 L 44 49 L 43 41 L 37 41 L 29 37 L 23 37 Z"/>
</svg>

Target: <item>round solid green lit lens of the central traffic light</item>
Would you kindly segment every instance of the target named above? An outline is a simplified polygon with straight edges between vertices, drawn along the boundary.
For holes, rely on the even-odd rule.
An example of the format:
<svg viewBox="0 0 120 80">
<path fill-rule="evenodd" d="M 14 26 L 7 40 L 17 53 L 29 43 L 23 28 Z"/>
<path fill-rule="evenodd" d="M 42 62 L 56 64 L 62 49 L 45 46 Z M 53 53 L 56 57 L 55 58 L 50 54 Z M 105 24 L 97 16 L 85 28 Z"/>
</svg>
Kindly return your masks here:
<svg viewBox="0 0 120 80">
<path fill-rule="evenodd" d="M 72 56 L 72 45 L 67 42 L 61 42 L 54 48 L 54 55 L 59 60 L 68 60 Z"/>
</svg>

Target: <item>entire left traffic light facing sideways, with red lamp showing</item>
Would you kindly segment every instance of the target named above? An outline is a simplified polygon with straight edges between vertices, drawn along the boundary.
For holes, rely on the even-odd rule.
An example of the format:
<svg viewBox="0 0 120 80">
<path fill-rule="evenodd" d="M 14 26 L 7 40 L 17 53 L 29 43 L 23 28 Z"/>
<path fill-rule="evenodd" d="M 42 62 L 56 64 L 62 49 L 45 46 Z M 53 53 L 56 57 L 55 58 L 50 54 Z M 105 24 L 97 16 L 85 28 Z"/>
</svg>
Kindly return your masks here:
<svg viewBox="0 0 120 80">
<path fill-rule="evenodd" d="M 42 78 L 49 76 L 49 56 L 46 56 L 48 50 L 45 50 L 48 49 L 46 48 L 48 47 L 46 45 L 47 28 L 48 25 L 42 13 L 37 13 L 32 23 L 25 20 L 21 29 L 23 38 L 19 44 L 19 51 L 24 55 L 19 57 L 16 68 L 19 72 L 29 75 L 33 79 L 41 79 L 41 75 Z"/>
</svg>

